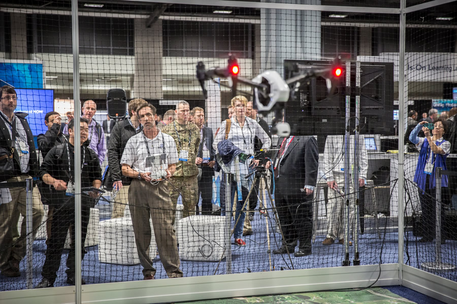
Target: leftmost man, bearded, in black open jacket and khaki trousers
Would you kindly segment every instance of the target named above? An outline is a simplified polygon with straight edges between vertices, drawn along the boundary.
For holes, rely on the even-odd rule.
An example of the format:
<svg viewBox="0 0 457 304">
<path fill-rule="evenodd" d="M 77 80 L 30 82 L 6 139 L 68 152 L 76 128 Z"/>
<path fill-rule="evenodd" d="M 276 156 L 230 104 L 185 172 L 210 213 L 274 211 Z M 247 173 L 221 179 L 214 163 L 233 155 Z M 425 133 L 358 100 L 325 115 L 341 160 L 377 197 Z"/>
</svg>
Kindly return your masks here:
<svg viewBox="0 0 457 304">
<path fill-rule="evenodd" d="M 19 262 L 25 256 L 25 220 L 21 235 L 13 242 L 13 226 L 17 225 L 18 212 L 25 217 L 25 180 L 38 175 L 38 157 L 34 137 L 25 113 L 14 113 L 17 94 L 14 88 L 0 88 L 0 271 L 6 277 L 19 277 Z M 12 158 L 12 170 L 4 171 L 7 158 Z M 8 175 L 7 175 L 8 174 Z M 32 203 L 33 237 L 41 224 L 44 210 L 40 200 Z"/>
</svg>

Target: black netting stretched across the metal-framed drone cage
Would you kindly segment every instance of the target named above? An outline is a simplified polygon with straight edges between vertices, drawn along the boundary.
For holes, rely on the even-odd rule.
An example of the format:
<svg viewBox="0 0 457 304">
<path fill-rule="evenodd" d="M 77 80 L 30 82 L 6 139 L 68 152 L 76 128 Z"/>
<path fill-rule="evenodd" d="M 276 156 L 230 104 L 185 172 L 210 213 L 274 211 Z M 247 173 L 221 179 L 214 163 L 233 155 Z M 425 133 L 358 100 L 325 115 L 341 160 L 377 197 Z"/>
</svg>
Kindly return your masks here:
<svg viewBox="0 0 457 304">
<path fill-rule="evenodd" d="M 398 263 L 400 217 L 404 262 L 455 281 L 427 263 L 457 263 L 455 177 L 443 178 L 441 245 L 414 131 L 422 113 L 436 130 L 445 117 L 445 156 L 430 160 L 454 170 L 455 6 L 407 14 L 403 42 L 394 2 L 255 4 L 79 3 L 82 278 Z M 0 165 L 13 168 L 0 176 L 2 291 L 74 283 L 73 33 L 69 1 L 0 10 Z"/>
</svg>

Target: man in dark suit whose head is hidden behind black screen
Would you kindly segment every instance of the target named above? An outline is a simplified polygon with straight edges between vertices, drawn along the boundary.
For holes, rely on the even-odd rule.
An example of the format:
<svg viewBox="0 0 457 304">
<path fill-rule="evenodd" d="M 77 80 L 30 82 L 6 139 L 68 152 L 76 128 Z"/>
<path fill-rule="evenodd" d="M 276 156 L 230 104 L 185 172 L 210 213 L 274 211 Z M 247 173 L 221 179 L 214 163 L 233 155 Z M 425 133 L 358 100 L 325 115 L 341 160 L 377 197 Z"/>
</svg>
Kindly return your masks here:
<svg viewBox="0 0 457 304">
<path fill-rule="evenodd" d="M 311 254 L 312 199 L 317 181 L 319 154 L 313 136 L 280 138 L 278 152 L 273 157 L 275 172 L 275 203 L 283 240 L 274 254 Z"/>
</svg>

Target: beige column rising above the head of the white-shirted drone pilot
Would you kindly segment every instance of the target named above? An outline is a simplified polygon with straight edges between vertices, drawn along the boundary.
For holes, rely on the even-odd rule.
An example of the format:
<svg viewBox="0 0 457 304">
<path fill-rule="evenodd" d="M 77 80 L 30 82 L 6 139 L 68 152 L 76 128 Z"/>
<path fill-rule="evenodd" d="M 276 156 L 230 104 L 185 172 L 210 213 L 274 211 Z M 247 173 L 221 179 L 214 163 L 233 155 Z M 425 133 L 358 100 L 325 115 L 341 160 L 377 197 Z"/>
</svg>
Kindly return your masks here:
<svg viewBox="0 0 457 304">
<path fill-rule="evenodd" d="M 162 21 L 135 19 L 135 74 L 130 98 L 162 99 Z"/>
</svg>

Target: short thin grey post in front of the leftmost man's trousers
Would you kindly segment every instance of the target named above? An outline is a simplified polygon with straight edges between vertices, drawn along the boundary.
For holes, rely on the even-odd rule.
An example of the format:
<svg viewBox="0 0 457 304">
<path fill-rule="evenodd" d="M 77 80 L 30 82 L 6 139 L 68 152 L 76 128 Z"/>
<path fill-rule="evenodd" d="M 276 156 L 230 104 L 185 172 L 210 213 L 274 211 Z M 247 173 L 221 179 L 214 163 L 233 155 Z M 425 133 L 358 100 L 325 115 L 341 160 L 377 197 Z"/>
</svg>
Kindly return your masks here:
<svg viewBox="0 0 457 304">
<path fill-rule="evenodd" d="M 26 222 L 26 252 L 27 252 L 27 260 L 26 260 L 26 267 L 25 267 L 25 282 L 28 289 L 34 288 L 33 286 L 33 277 L 32 277 L 32 245 L 34 244 L 34 234 L 33 232 L 33 214 L 32 214 L 32 206 L 33 206 L 33 189 L 34 189 L 34 180 L 32 178 L 27 178 L 25 180 L 25 222 Z"/>
</svg>

